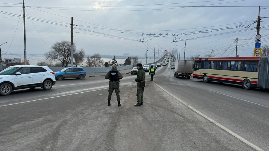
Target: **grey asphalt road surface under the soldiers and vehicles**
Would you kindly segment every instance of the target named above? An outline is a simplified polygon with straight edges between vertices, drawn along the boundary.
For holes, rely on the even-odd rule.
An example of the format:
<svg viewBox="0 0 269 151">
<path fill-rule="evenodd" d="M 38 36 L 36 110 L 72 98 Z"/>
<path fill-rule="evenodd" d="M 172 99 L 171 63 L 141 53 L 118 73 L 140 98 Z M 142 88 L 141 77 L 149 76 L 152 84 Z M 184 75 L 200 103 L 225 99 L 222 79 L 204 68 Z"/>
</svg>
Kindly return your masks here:
<svg viewBox="0 0 269 151">
<path fill-rule="evenodd" d="M 269 150 L 269 93 L 146 72 L 143 106 L 136 75 L 120 81 L 122 106 L 107 106 L 103 76 L 57 81 L 50 91 L 0 96 L 0 150 Z"/>
</svg>

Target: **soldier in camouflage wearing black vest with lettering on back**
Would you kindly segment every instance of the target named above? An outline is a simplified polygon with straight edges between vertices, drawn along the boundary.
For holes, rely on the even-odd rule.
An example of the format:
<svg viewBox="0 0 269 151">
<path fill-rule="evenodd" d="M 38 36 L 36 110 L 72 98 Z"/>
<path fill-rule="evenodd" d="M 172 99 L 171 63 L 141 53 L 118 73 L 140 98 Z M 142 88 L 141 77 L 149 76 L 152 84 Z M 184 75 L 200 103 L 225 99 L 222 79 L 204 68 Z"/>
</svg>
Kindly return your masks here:
<svg viewBox="0 0 269 151">
<path fill-rule="evenodd" d="M 114 90 L 117 95 L 118 106 L 121 106 L 120 97 L 119 97 L 119 79 L 122 79 L 122 73 L 120 73 L 117 70 L 117 66 L 113 64 L 111 71 L 106 73 L 105 78 L 109 79 L 109 89 L 108 89 L 108 97 L 107 97 L 108 106 L 110 106 L 111 95 Z"/>
</svg>

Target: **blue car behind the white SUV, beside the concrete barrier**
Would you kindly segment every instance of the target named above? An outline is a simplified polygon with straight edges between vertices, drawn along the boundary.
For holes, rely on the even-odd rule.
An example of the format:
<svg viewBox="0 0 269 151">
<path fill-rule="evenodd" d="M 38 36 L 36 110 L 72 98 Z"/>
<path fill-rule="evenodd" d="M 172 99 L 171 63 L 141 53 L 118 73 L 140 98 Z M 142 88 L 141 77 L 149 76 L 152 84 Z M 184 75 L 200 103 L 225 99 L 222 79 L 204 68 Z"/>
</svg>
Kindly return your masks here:
<svg viewBox="0 0 269 151">
<path fill-rule="evenodd" d="M 66 78 L 84 79 L 86 71 L 81 67 L 67 67 L 61 71 L 55 72 L 55 79 L 62 80 Z"/>
</svg>

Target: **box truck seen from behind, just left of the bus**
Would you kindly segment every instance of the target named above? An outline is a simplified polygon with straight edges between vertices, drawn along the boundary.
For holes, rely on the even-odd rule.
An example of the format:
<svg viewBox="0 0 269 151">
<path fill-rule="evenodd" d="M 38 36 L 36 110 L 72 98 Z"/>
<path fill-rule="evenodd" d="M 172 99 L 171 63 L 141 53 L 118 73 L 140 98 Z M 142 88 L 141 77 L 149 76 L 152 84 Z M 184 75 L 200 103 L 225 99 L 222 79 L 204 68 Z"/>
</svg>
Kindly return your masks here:
<svg viewBox="0 0 269 151">
<path fill-rule="evenodd" d="M 175 60 L 175 73 L 174 76 L 191 78 L 193 67 L 193 60 Z"/>
</svg>

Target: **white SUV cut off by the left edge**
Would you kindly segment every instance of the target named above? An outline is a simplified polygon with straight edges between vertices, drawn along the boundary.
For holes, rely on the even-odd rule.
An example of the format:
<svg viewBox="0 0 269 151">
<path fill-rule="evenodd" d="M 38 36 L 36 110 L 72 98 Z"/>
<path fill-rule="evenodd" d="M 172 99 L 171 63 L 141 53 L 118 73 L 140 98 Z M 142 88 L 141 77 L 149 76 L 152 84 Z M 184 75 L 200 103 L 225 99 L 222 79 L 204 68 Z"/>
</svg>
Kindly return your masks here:
<svg viewBox="0 0 269 151">
<path fill-rule="evenodd" d="M 54 72 L 46 66 L 16 65 L 0 72 L 0 95 L 18 89 L 42 87 L 50 90 L 56 83 Z"/>
</svg>

